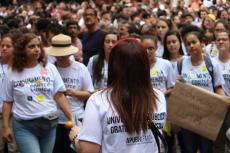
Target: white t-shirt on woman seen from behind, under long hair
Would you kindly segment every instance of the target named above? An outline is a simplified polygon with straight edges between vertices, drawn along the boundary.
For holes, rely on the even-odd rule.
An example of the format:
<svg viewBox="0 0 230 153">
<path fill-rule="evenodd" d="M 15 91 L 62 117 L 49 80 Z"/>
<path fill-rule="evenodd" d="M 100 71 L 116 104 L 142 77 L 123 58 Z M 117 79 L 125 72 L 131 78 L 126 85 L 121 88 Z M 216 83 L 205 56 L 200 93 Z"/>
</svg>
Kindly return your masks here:
<svg viewBox="0 0 230 153">
<path fill-rule="evenodd" d="M 162 130 L 166 119 L 166 100 L 161 91 L 155 91 L 158 100 L 153 121 Z M 89 98 L 78 139 L 101 145 L 101 153 L 158 153 L 151 130 L 129 135 L 109 100 L 108 90 L 99 91 Z"/>
</svg>

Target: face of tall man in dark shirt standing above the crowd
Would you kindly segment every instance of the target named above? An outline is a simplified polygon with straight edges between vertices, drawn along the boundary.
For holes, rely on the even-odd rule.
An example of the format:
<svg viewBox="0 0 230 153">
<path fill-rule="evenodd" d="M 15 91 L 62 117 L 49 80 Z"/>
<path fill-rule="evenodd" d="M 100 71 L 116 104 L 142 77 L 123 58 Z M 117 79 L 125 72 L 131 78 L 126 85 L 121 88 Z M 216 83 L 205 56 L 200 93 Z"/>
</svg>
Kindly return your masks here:
<svg viewBox="0 0 230 153">
<path fill-rule="evenodd" d="M 97 16 L 94 13 L 94 10 L 92 9 L 86 9 L 83 14 L 83 17 L 86 27 L 94 26 L 97 22 Z"/>
</svg>

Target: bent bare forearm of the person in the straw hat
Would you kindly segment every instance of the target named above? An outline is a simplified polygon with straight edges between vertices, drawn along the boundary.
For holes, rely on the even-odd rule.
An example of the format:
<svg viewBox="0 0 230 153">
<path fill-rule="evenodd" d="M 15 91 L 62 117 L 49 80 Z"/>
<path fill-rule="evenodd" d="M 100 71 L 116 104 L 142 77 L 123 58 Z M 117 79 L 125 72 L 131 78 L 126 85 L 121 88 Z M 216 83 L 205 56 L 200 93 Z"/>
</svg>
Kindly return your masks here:
<svg viewBox="0 0 230 153">
<path fill-rule="evenodd" d="M 90 92 L 88 92 L 88 91 L 81 91 L 81 90 L 72 89 L 72 88 L 66 89 L 65 94 L 67 96 L 77 97 L 80 100 L 86 100 L 91 95 Z"/>
</svg>

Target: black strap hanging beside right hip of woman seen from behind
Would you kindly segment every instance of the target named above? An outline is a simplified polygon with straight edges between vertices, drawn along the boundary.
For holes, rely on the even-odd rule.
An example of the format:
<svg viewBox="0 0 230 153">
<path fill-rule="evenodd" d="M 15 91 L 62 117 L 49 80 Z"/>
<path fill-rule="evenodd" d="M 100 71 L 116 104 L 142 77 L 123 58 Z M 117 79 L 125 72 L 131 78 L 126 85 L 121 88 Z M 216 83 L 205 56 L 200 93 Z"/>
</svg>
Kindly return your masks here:
<svg viewBox="0 0 230 153">
<path fill-rule="evenodd" d="M 152 131 L 153 136 L 154 136 L 154 138 L 156 140 L 158 152 L 161 153 L 161 151 L 160 151 L 161 150 L 160 149 L 160 141 L 159 141 L 159 138 L 160 138 L 160 140 L 163 143 L 164 148 L 165 148 L 164 153 L 167 153 L 168 152 L 168 145 L 167 145 L 167 142 L 166 142 L 164 136 L 160 133 L 160 131 L 157 129 L 157 127 L 155 126 L 155 124 L 153 122 L 149 123 L 149 128 Z"/>
</svg>

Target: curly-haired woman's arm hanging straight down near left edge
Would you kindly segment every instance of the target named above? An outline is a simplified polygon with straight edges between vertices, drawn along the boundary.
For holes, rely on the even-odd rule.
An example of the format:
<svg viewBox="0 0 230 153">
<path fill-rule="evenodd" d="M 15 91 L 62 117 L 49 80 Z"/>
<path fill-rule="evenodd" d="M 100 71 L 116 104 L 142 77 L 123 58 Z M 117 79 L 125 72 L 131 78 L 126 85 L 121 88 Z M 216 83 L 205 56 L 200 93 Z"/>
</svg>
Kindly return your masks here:
<svg viewBox="0 0 230 153">
<path fill-rule="evenodd" d="M 13 141 L 13 133 L 10 128 L 10 114 L 12 110 L 13 103 L 12 102 L 4 102 L 2 109 L 2 117 L 3 117 L 3 140 L 6 142 Z"/>
</svg>

